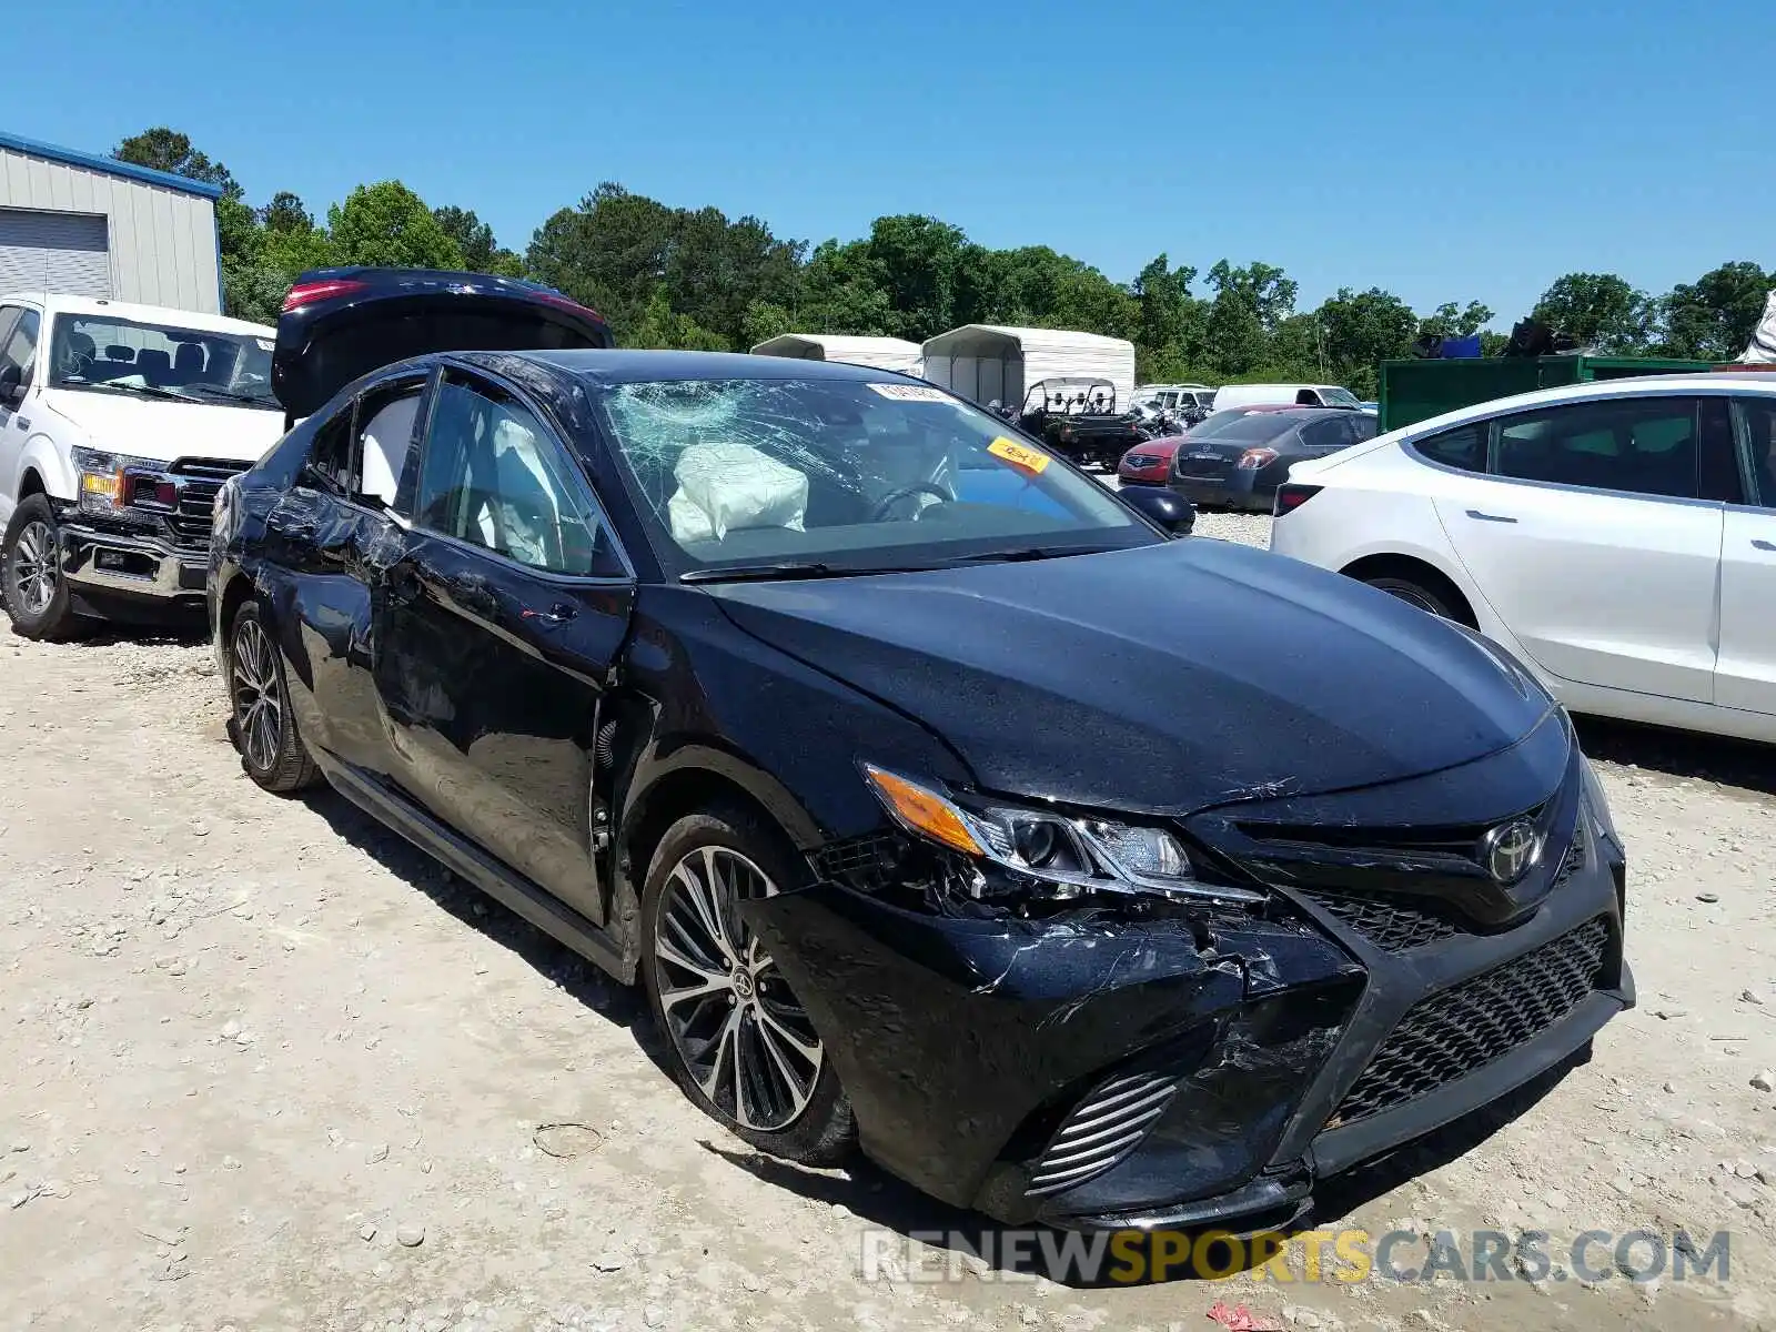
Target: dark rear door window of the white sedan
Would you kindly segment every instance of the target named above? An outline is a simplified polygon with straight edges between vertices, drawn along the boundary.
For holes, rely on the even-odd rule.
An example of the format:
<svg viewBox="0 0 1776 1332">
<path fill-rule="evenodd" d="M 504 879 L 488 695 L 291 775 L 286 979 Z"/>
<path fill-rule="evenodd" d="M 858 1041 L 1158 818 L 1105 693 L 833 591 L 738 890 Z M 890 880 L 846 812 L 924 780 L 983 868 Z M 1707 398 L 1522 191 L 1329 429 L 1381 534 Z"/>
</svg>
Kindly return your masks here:
<svg viewBox="0 0 1776 1332">
<path fill-rule="evenodd" d="M 1694 499 L 1696 400 L 1616 398 L 1499 423 L 1494 471 L 1522 481 Z"/>
</svg>

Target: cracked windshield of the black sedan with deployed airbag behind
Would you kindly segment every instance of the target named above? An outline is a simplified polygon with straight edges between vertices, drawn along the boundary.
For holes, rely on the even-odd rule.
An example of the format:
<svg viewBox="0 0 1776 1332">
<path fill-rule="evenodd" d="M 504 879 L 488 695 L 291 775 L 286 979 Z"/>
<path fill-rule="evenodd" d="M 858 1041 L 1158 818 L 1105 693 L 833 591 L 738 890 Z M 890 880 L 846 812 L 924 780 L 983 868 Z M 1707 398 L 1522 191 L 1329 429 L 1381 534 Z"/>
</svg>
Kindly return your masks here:
<svg viewBox="0 0 1776 1332">
<path fill-rule="evenodd" d="M 1158 540 L 1099 485 L 927 385 L 623 384 L 604 412 L 682 570 L 916 568 Z"/>
</svg>

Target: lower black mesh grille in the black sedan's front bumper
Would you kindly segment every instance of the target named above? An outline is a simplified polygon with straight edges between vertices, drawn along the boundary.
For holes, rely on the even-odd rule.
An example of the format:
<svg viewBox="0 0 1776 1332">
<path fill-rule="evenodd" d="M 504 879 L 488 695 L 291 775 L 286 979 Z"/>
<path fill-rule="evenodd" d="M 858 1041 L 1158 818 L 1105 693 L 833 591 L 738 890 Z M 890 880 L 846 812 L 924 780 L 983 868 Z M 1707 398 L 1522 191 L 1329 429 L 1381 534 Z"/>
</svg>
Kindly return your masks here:
<svg viewBox="0 0 1776 1332">
<path fill-rule="evenodd" d="M 1607 947 L 1609 925 L 1598 916 L 1421 1000 L 1382 1043 L 1327 1128 L 1394 1110 L 1554 1027 L 1597 987 Z"/>
</svg>

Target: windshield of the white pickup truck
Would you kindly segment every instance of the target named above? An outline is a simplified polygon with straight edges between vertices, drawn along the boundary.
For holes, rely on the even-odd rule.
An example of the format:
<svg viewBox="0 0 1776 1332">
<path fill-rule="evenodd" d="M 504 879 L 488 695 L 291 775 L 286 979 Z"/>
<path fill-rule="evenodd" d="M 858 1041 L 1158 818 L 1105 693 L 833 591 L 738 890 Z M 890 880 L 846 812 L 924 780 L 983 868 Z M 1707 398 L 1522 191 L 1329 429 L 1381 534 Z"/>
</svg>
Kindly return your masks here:
<svg viewBox="0 0 1776 1332">
<path fill-rule="evenodd" d="M 57 389 L 281 410 L 272 396 L 272 339 L 208 329 L 59 314 L 50 377 Z"/>
</svg>

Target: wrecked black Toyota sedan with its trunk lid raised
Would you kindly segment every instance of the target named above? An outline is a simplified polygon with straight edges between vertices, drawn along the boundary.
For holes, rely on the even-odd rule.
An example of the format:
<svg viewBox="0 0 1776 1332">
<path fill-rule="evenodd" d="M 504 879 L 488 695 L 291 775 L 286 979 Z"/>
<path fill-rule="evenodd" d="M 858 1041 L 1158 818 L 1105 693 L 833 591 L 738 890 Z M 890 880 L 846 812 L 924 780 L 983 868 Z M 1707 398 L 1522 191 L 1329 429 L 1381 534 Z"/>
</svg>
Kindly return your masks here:
<svg viewBox="0 0 1776 1332">
<path fill-rule="evenodd" d="M 1280 1224 L 1632 1003 L 1621 844 L 1502 650 L 929 384 L 607 343 L 305 279 L 211 622 L 254 781 L 639 984 L 739 1137 L 1011 1222 Z"/>
</svg>

